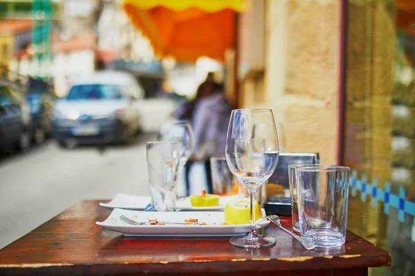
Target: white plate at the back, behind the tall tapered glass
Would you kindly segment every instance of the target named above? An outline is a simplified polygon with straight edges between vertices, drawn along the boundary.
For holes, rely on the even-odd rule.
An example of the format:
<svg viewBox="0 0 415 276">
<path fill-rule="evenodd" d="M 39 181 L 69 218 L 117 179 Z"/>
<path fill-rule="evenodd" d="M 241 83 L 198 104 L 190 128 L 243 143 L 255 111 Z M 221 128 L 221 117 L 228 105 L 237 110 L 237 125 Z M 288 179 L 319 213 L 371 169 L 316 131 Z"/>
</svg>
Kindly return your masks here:
<svg viewBox="0 0 415 276">
<path fill-rule="evenodd" d="M 183 211 L 223 211 L 225 205 L 228 201 L 232 199 L 237 199 L 238 195 L 230 195 L 226 197 L 221 197 L 219 199 L 219 206 L 214 207 L 192 207 L 190 204 L 190 199 L 186 197 L 185 199 L 178 199 L 176 202 L 176 206 L 178 210 Z M 121 209 L 128 209 L 128 210 L 144 210 L 148 204 L 151 202 L 151 197 L 149 196 L 141 196 L 141 195 L 126 195 L 126 194 L 118 194 L 114 197 L 111 201 L 107 203 L 100 203 L 100 206 L 112 210 L 113 208 L 121 208 Z"/>
</svg>

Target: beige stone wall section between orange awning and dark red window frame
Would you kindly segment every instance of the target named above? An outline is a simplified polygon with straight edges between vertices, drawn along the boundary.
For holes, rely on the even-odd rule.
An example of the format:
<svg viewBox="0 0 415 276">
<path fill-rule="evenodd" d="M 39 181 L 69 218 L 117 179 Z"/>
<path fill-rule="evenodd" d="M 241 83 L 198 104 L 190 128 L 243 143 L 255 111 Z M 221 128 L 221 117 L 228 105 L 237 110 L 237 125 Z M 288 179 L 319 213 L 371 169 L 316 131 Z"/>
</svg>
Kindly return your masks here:
<svg viewBox="0 0 415 276">
<path fill-rule="evenodd" d="M 250 6 L 239 17 L 238 106 L 273 108 L 284 151 L 320 152 L 322 163 L 338 163 L 338 1 Z"/>
</svg>

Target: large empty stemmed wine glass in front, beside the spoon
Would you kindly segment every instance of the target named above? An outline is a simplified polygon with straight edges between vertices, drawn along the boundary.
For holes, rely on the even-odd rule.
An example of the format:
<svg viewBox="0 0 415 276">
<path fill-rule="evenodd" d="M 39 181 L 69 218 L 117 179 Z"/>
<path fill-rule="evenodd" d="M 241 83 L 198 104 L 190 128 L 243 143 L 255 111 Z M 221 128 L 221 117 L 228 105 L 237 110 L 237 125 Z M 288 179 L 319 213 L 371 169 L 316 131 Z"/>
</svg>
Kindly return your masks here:
<svg viewBox="0 0 415 276">
<path fill-rule="evenodd" d="M 278 163 L 279 146 L 273 111 L 232 110 L 225 155 L 230 170 L 250 195 L 250 233 L 232 237 L 230 243 L 243 248 L 272 246 L 275 244 L 273 237 L 257 235 L 252 214 L 257 189 L 273 175 Z"/>
</svg>

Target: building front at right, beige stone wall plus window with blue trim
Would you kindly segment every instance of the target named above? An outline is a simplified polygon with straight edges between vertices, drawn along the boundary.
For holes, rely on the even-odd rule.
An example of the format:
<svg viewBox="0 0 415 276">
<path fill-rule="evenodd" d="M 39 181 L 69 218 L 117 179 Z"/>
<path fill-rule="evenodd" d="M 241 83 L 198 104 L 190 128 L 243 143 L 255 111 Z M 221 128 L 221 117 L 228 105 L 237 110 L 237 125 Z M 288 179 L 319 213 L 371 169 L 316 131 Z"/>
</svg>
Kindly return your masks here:
<svg viewBox="0 0 415 276">
<path fill-rule="evenodd" d="M 348 228 L 392 257 L 371 275 L 414 275 L 415 2 L 251 4 L 239 106 L 273 108 L 284 151 L 349 166 Z"/>
</svg>

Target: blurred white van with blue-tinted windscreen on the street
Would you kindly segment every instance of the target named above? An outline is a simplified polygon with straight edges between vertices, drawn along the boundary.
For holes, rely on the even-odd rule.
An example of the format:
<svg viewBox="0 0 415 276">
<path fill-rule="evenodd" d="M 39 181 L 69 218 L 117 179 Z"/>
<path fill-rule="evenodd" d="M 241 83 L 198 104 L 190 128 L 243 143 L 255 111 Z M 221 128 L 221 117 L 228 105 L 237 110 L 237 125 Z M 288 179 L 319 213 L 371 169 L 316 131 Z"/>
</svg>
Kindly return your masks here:
<svg viewBox="0 0 415 276">
<path fill-rule="evenodd" d="M 53 136 L 61 146 L 128 143 L 140 128 L 143 95 L 126 72 L 96 72 L 56 101 Z"/>
</svg>

